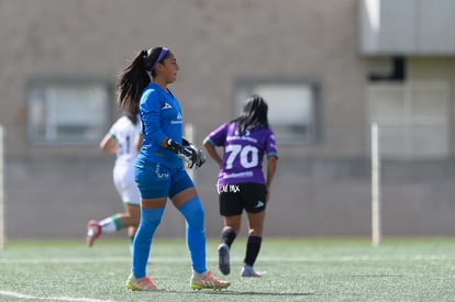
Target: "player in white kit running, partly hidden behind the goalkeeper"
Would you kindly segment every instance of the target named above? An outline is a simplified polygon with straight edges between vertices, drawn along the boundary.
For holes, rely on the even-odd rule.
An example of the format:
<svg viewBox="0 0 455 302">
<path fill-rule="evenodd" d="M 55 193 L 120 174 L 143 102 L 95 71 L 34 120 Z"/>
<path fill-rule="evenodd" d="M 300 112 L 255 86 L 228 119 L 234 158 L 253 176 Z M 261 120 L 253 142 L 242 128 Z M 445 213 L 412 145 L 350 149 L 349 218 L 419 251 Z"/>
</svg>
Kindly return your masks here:
<svg viewBox="0 0 455 302">
<path fill-rule="evenodd" d="M 114 233 L 127 227 L 130 248 L 141 219 L 141 194 L 134 181 L 134 161 L 142 145 L 141 122 L 137 114 L 124 113 L 111 126 L 100 142 L 103 152 L 115 154 L 113 182 L 123 201 L 124 213 L 118 213 L 101 221 L 90 221 L 87 245 L 92 246 L 102 233 Z"/>
</svg>

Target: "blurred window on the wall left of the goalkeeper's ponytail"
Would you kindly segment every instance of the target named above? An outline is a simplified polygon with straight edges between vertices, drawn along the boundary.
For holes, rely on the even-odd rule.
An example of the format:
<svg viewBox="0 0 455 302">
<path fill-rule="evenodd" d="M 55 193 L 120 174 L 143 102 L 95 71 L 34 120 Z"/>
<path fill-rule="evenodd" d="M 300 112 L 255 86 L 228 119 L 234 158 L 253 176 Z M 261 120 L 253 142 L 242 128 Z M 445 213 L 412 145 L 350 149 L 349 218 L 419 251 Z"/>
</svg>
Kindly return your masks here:
<svg viewBox="0 0 455 302">
<path fill-rule="evenodd" d="M 33 80 L 26 90 L 32 143 L 89 143 L 104 134 L 110 118 L 108 82 Z"/>
</svg>

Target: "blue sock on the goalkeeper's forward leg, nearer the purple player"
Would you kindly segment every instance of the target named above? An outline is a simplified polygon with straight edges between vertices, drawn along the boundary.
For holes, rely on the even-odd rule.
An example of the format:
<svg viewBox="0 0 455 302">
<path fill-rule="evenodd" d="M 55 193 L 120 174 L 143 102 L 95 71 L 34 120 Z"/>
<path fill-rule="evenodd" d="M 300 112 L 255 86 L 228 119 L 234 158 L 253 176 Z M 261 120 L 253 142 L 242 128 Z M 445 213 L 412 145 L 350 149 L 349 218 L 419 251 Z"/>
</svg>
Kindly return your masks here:
<svg viewBox="0 0 455 302">
<path fill-rule="evenodd" d="M 187 245 L 192 269 L 199 273 L 206 272 L 204 213 L 201 201 L 196 197 L 181 205 L 179 211 L 187 221 Z"/>
</svg>

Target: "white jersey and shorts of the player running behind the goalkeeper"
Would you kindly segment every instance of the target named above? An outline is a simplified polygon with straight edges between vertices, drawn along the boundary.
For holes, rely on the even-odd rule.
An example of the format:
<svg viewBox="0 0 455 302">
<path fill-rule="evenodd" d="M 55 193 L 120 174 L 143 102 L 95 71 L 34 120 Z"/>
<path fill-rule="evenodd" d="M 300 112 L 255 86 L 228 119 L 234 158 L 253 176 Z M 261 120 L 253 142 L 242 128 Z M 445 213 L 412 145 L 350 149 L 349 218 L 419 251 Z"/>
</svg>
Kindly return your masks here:
<svg viewBox="0 0 455 302">
<path fill-rule="evenodd" d="M 138 205 L 141 194 L 134 181 L 134 161 L 137 157 L 136 138 L 141 135 L 141 122 L 134 125 L 129 118 L 121 116 L 109 133 L 116 141 L 116 159 L 113 181 L 123 203 Z"/>
</svg>

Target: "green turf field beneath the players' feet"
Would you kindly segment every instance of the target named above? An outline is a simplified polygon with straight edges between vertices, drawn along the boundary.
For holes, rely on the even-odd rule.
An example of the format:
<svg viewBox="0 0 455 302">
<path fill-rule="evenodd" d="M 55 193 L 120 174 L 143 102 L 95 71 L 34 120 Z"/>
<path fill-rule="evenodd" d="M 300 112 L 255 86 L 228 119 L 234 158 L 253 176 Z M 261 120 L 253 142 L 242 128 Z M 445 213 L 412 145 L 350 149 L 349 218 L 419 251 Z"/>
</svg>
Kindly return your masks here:
<svg viewBox="0 0 455 302">
<path fill-rule="evenodd" d="M 208 266 L 218 277 L 218 242 Z M 240 269 L 245 241 L 231 251 L 223 291 L 189 288 L 184 239 L 156 238 L 148 266 L 163 292 L 131 292 L 126 239 L 8 242 L 0 250 L 0 301 L 455 301 L 455 238 L 266 238 L 256 262 L 263 278 Z"/>
</svg>

